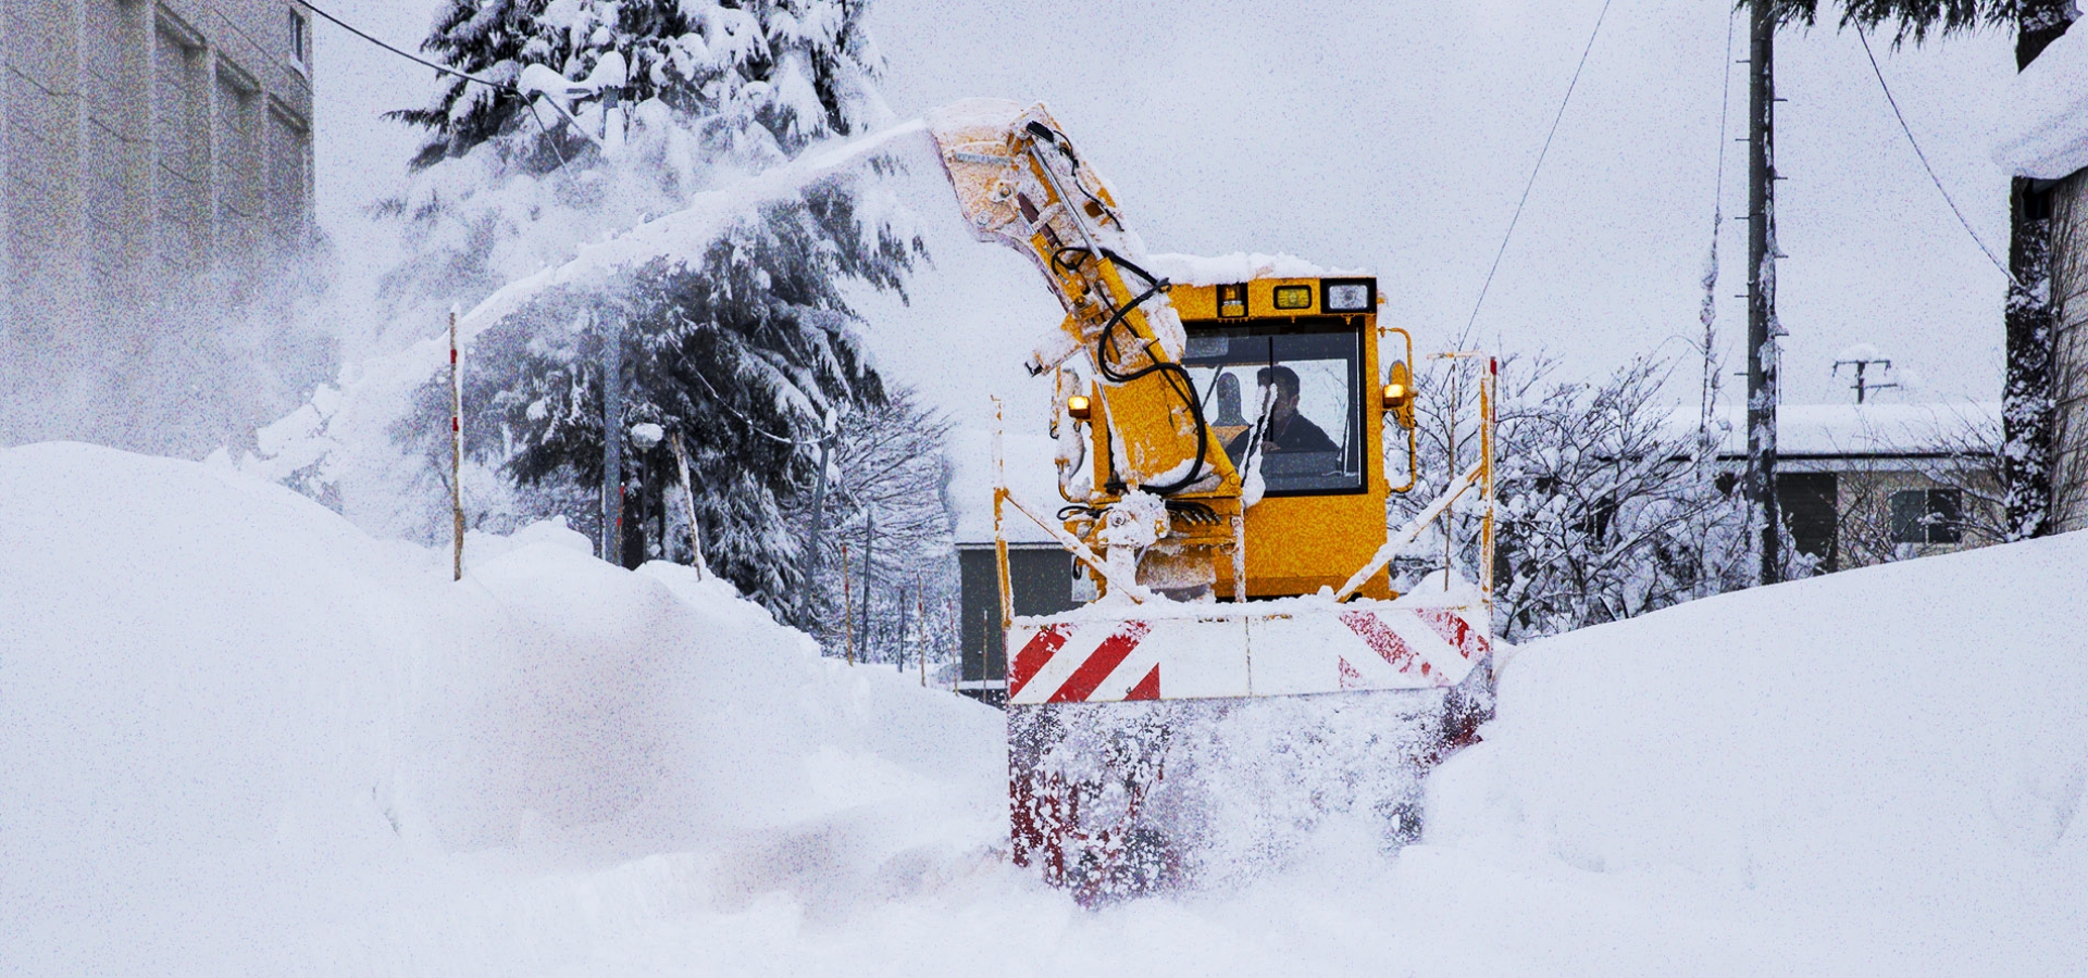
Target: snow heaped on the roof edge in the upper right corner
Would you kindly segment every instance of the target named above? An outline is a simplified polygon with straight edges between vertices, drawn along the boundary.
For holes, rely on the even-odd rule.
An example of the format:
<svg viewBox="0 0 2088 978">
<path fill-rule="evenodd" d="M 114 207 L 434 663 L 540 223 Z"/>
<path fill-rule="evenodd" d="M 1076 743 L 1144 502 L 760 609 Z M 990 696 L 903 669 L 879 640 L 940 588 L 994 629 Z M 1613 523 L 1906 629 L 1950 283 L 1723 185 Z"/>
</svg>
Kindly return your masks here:
<svg viewBox="0 0 2088 978">
<path fill-rule="evenodd" d="M 2019 177 L 2061 179 L 2088 167 L 2088 31 L 2067 31 L 2009 83 L 1994 163 Z"/>
</svg>

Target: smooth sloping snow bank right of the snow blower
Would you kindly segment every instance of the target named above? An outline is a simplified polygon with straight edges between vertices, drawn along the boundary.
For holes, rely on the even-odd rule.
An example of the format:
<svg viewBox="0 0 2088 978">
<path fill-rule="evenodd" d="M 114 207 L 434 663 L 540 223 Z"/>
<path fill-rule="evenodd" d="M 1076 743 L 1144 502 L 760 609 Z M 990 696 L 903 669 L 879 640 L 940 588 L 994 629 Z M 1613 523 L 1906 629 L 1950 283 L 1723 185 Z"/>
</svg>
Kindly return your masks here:
<svg viewBox="0 0 2088 978">
<path fill-rule="evenodd" d="M 1505 932 L 1668 932 L 1670 974 L 2069 972 L 2088 924 L 2084 561 L 2071 534 L 1531 644 L 1487 742 L 1430 780 L 1443 851 L 1401 870 L 1533 874 L 1497 907 Z M 1604 905 L 1562 913 L 1556 886 Z M 1618 953 L 1543 940 L 1589 945 L 1579 974 Z"/>
</svg>

